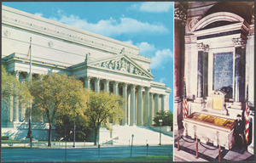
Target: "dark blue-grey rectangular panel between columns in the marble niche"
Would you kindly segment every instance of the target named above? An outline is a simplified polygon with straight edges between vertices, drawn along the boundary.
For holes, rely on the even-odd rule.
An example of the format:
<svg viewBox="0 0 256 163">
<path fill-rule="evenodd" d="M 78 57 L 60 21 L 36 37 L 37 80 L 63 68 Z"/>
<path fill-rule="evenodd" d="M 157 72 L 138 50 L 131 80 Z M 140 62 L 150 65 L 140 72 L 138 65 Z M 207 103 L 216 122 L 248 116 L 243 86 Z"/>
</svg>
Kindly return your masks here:
<svg viewBox="0 0 256 163">
<path fill-rule="evenodd" d="M 233 53 L 213 54 L 213 90 L 223 90 L 232 96 L 233 89 Z M 231 97 L 229 97 L 231 98 Z"/>
</svg>

